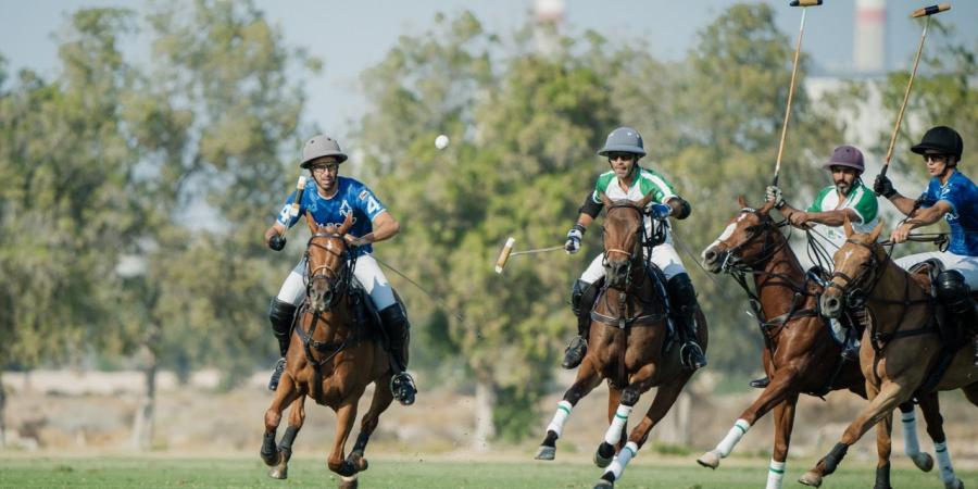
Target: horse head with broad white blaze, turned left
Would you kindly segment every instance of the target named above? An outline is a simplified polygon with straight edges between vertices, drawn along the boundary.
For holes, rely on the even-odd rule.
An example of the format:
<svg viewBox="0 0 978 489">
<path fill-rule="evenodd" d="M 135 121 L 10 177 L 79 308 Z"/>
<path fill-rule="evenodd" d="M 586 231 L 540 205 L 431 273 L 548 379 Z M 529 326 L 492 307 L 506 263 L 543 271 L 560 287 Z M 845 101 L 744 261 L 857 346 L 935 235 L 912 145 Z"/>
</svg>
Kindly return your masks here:
<svg viewBox="0 0 978 489">
<path fill-rule="evenodd" d="M 742 196 L 737 202 L 740 211 L 702 253 L 703 266 L 714 274 L 727 272 L 732 265 L 752 267 L 763 264 L 785 240 L 778 224 L 770 217 L 774 202 L 766 202 L 761 209 L 748 205 Z"/>
</svg>

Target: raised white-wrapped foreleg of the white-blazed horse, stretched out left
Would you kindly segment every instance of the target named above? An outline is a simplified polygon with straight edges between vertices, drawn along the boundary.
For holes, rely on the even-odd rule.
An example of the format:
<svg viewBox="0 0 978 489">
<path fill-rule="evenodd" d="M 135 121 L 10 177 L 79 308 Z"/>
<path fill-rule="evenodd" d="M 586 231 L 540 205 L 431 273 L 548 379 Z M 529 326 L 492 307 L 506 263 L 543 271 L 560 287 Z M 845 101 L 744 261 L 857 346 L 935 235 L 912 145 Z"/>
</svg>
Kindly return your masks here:
<svg viewBox="0 0 978 489">
<path fill-rule="evenodd" d="M 740 417 L 737 418 L 734 426 L 727 431 L 727 436 L 717 443 L 716 448 L 697 459 L 697 463 L 704 467 L 718 467 L 720 460 L 730 455 L 730 452 L 734 451 L 734 447 L 737 447 L 740 439 L 747 435 L 748 430 L 751 429 L 751 426 L 753 426 L 761 416 L 767 414 L 768 411 L 776 405 L 779 405 L 788 398 L 794 397 L 797 399 L 798 373 L 799 368 L 793 365 L 786 365 L 775 371 L 770 384 L 764 388 L 764 391 L 762 391 L 761 396 L 754 400 L 754 403 L 740 414 Z"/>
</svg>

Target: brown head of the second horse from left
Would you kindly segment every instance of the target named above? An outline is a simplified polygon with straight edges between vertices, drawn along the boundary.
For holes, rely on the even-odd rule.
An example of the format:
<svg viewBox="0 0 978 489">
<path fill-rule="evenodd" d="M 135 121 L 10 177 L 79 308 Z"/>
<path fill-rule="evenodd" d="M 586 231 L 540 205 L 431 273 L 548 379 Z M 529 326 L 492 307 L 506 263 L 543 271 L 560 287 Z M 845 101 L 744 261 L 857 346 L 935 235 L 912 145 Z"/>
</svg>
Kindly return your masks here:
<svg viewBox="0 0 978 489">
<path fill-rule="evenodd" d="M 610 287 L 622 288 L 631 275 L 634 264 L 639 263 L 641 271 L 644 208 L 652 201 L 652 195 L 639 201 L 612 202 L 602 192 L 601 201 L 607 209 L 603 226 L 605 280 Z"/>
</svg>

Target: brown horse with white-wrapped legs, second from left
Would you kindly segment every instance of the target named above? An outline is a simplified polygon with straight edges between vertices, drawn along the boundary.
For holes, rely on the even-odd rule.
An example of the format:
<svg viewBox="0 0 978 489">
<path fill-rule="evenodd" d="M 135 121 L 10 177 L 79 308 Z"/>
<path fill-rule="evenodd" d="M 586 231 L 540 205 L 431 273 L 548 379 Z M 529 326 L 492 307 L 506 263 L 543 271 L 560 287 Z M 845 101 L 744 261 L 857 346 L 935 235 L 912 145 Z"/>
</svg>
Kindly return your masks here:
<svg viewBox="0 0 978 489">
<path fill-rule="evenodd" d="M 644 444 L 649 431 L 672 408 L 693 371 L 679 362 L 679 349 L 669 341 L 664 283 L 650 277 L 644 247 L 651 241 L 643 211 L 651 195 L 638 202 L 612 202 L 604 195 L 605 280 L 591 313 L 588 353 L 577 379 L 557 404 L 538 460 L 553 460 L 555 442 L 570 410 L 602 379 L 609 381 L 607 419 L 611 426 L 598 447 L 594 463 L 607 467 L 595 488 L 614 487 L 625 466 Z M 698 312 L 698 340 L 706 349 L 706 319 Z M 641 423 L 627 440 L 625 426 L 639 397 L 659 387 Z M 614 457 L 617 451 L 617 456 Z"/>
</svg>

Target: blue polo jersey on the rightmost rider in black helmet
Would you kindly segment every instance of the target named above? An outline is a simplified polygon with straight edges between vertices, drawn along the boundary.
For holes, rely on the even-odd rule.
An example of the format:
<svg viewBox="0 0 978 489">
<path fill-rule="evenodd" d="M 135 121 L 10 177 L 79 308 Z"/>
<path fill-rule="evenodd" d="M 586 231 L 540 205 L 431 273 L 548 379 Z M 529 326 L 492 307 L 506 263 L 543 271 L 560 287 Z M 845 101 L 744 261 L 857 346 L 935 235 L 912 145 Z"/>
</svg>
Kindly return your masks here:
<svg viewBox="0 0 978 489">
<path fill-rule="evenodd" d="M 941 200 L 951 204 L 951 212 L 944 214 L 951 226 L 948 251 L 963 256 L 978 256 L 978 187 L 955 171 L 944 185 L 941 185 L 940 178 L 931 178 L 920 198 L 923 208 L 932 206 Z"/>
</svg>

